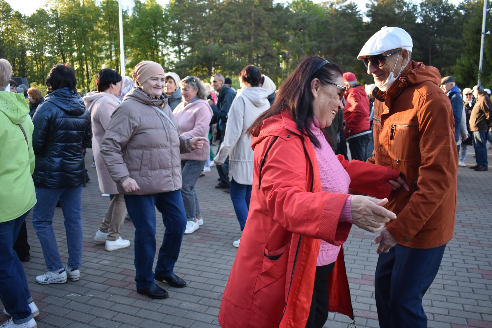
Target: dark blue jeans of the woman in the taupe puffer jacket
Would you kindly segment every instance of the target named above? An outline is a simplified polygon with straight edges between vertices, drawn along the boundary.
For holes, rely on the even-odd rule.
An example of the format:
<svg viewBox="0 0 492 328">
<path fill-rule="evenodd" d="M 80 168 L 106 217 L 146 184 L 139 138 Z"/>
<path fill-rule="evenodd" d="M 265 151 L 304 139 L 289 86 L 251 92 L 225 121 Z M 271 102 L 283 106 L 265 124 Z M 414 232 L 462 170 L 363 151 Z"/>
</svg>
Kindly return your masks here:
<svg viewBox="0 0 492 328">
<path fill-rule="evenodd" d="M 181 190 L 152 195 L 124 195 L 126 209 L 135 227 L 135 282 L 138 289 L 147 289 L 155 285 L 155 208 L 162 214 L 166 227 L 162 245 L 157 256 L 155 273 L 170 276 L 174 273 L 174 264 L 180 255 L 181 241 L 186 229 Z"/>
</svg>

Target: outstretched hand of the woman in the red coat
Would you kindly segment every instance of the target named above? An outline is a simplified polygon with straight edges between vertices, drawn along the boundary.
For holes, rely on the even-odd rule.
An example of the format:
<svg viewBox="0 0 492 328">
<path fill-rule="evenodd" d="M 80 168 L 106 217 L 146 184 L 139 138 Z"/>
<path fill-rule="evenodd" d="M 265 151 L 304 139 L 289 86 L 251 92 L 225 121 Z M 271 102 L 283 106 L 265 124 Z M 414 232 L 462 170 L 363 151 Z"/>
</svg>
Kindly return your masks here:
<svg viewBox="0 0 492 328">
<path fill-rule="evenodd" d="M 383 208 L 388 203 L 385 199 L 370 198 L 368 196 L 354 195 L 350 199 L 352 209 L 352 222 L 369 232 L 378 232 L 384 228 L 384 224 L 397 218 L 396 214 Z"/>
</svg>

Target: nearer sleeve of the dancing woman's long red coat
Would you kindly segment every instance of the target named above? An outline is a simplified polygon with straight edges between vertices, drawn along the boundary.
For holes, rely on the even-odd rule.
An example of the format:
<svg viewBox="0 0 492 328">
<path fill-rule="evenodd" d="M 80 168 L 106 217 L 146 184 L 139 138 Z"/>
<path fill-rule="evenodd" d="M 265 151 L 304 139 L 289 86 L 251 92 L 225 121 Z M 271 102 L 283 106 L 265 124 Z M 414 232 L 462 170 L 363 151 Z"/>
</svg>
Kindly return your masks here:
<svg viewBox="0 0 492 328">
<path fill-rule="evenodd" d="M 263 143 L 270 145 L 273 138 L 267 137 Z M 311 161 L 315 160 L 311 158 Z M 341 245 L 352 226 L 348 222 L 338 222 L 349 195 L 310 192 L 306 186 L 311 185 L 311 177 L 312 168 L 302 140 L 278 138 L 261 171 L 260 190 L 265 195 L 267 208 L 273 219 L 287 231 Z"/>
</svg>

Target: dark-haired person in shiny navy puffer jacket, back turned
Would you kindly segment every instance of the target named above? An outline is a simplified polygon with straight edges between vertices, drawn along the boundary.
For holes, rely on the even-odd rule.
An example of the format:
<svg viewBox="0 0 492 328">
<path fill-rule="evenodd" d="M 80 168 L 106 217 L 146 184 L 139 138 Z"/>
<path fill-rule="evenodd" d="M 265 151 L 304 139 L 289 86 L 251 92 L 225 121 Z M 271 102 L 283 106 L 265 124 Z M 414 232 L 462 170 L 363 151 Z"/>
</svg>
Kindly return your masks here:
<svg viewBox="0 0 492 328">
<path fill-rule="evenodd" d="M 36 165 L 32 178 L 37 204 L 32 225 L 41 243 L 48 272 L 36 277 L 40 284 L 80 279 L 82 262 L 82 184 L 86 179 L 84 151 L 91 142 L 91 115 L 77 94 L 75 71 L 55 65 L 46 77 L 50 93 L 34 113 L 32 148 Z M 63 209 L 68 262 L 63 266 L 53 233 L 57 201 Z"/>
</svg>

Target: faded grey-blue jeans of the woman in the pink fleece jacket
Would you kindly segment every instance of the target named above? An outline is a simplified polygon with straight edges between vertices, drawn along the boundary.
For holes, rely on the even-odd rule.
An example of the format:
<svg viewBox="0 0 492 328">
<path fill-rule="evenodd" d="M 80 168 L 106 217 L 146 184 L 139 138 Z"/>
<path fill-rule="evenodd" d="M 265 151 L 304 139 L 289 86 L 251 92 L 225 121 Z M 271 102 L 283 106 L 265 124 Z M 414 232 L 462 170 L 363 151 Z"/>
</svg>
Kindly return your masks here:
<svg viewBox="0 0 492 328">
<path fill-rule="evenodd" d="M 200 178 L 200 174 L 205 166 L 205 161 L 181 161 L 181 176 L 183 177 L 183 186 L 181 194 L 183 196 L 184 211 L 188 221 L 201 217 L 198 196 L 195 191 L 195 184 Z"/>
</svg>

